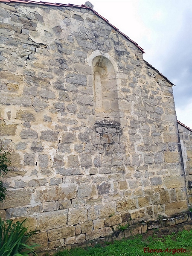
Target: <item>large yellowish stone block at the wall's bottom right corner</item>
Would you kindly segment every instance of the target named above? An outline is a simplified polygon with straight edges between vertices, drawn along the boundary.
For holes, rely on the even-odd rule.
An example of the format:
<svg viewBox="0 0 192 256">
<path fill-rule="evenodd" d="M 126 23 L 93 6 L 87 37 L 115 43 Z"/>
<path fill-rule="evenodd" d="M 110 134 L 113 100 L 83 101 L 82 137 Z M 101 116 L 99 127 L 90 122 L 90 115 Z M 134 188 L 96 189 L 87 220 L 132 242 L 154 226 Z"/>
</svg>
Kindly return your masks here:
<svg viewBox="0 0 192 256">
<path fill-rule="evenodd" d="M 173 202 L 166 204 L 165 206 L 165 214 L 170 216 L 179 212 L 184 212 L 188 210 L 187 201 Z"/>
</svg>

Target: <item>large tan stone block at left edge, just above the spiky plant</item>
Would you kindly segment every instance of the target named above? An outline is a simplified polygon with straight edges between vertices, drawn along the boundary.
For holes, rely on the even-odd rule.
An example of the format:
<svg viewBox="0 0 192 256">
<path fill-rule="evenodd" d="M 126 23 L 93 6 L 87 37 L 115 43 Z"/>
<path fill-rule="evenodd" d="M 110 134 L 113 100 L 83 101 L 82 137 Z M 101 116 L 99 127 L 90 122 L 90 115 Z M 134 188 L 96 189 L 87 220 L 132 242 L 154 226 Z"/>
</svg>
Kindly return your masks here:
<svg viewBox="0 0 192 256">
<path fill-rule="evenodd" d="M 6 200 L 0 203 L 0 209 L 8 209 L 10 207 L 20 207 L 30 204 L 31 189 L 16 189 L 6 192 Z"/>
</svg>

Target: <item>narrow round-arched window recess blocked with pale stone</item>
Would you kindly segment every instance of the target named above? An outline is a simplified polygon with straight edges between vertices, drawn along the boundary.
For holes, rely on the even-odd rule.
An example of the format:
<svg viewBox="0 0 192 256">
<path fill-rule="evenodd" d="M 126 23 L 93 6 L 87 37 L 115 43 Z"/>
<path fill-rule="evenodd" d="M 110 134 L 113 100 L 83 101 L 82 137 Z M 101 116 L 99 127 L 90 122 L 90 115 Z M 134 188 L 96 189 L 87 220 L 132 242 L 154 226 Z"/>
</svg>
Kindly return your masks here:
<svg viewBox="0 0 192 256">
<path fill-rule="evenodd" d="M 96 56 L 92 62 L 95 115 L 103 118 L 119 118 L 116 72 L 113 64 L 104 56 Z"/>
</svg>

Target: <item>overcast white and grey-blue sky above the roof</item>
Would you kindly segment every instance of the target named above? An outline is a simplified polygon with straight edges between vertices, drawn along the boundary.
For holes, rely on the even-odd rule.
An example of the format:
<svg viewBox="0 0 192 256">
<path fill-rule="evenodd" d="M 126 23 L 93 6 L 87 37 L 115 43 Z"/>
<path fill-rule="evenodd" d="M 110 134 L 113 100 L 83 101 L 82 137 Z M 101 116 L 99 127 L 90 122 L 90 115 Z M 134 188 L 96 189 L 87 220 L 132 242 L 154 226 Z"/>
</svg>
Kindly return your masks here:
<svg viewBox="0 0 192 256">
<path fill-rule="evenodd" d="M 90 2 L 96 12 L 136 41 L 145 51 L 143 58 L 176 85 L 177 119 L 192 128 L 192 0 Z"/>
</svg>

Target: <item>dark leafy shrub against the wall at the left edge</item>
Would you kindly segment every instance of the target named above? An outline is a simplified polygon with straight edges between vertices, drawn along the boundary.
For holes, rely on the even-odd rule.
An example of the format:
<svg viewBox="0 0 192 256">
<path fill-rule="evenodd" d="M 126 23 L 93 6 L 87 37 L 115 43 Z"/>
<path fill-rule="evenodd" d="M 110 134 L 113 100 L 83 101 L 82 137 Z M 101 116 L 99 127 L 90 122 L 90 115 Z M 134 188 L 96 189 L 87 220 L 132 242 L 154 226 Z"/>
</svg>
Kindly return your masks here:
<svg viewBox="0 0 192 256">
<path fill-rule="evenodd" d="M 9 171 L 8 166 L 11 161 L 7 158 L 10 155 L 10 149 L 8 152 L 3 151 L 3 144 L 0 143 L 0 176 L 3 177 L 3 173 L 7 173 Z M 3 153 L 2 153 L 3 151 Z M 0 180 L 0 202 L 6 198 L 6 187 L 3 186 L 3 181 Z"/>
</svg>

